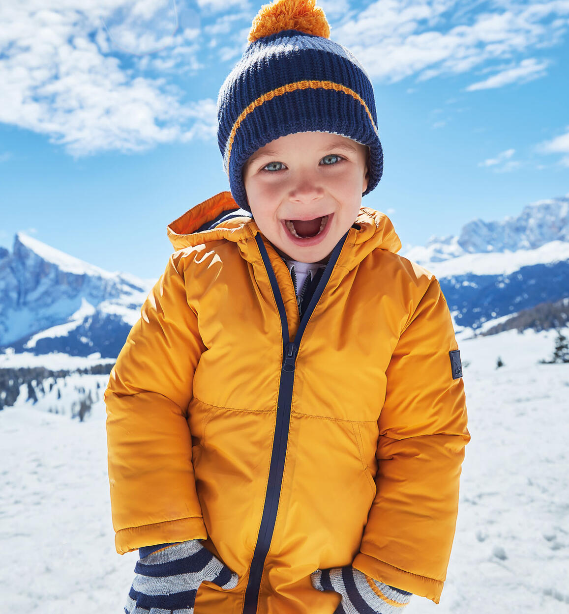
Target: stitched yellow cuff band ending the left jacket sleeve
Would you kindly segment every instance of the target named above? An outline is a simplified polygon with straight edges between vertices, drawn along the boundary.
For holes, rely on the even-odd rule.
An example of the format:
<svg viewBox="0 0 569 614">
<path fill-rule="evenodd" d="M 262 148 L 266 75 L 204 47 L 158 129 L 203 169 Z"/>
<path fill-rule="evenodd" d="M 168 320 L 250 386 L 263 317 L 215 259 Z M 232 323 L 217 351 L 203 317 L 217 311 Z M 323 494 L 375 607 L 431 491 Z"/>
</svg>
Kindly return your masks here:
<svg viewBox="0 0 569 614">
<path fill-rule="evenodd" d="M 120 529 L 115 535 L 115 546 L 119 554 L 125 554 L 155 544 L 187 542 L 192 539 L 205 539 L 207 536 L 202 517 L 192 516 Z"/>
</svg>

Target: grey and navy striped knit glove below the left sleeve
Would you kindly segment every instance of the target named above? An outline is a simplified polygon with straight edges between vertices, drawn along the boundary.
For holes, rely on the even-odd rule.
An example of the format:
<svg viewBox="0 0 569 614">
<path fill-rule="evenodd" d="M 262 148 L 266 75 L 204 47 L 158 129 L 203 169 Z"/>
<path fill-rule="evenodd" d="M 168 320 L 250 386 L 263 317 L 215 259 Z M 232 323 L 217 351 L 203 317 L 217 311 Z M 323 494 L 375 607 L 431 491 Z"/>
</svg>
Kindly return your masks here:
<svg viewBox="0 0 569 614">
<path fill-rule="evenodd" d="M 125 614 L 156 614 L 178 611 L 193 614 L 200 584 L 210 581 L 223 589 L 237 586 L 237 574 L 224 565 L 199 540 L 141 548 L 146 554 L 136 563 L 135 579 L 128 594 Z"/>
</svg>

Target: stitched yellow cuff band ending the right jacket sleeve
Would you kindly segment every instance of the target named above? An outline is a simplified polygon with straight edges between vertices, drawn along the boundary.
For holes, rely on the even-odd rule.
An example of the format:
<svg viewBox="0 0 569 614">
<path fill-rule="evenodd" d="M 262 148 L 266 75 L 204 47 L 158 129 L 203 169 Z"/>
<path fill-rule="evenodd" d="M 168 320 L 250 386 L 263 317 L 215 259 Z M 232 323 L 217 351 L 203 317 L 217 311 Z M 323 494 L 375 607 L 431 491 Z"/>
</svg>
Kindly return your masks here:
<svg viewBox="0 0 569 614">
<path fill-rule="evenodd" d="M 426 597 L 438 604 L 441 599 L 442 581 L 434 580 L 426 576 L 406 572 L 393 565 L 389 565 L 367 554 L 359 553 L 351 564 L 374 580 L 379 580 L 389 586 L 394 586 L 402 591 L 408 591 L 420 597 Z"/>
</svg>

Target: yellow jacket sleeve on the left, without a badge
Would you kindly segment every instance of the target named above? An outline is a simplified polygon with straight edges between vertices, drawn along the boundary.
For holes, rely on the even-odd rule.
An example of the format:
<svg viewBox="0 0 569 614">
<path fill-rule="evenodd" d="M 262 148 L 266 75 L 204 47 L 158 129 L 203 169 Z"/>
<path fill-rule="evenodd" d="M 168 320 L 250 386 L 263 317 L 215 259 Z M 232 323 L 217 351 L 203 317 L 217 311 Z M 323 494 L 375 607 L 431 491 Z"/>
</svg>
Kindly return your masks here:
<svg viewBox="0 0 569 614">
<path fill-rule="evenodd" d="M 206 538 L 186 421 L 204 351 L 182 274 L 170 262 L 130 331 L 104 394 L 117 552 Z"/>
</svg>

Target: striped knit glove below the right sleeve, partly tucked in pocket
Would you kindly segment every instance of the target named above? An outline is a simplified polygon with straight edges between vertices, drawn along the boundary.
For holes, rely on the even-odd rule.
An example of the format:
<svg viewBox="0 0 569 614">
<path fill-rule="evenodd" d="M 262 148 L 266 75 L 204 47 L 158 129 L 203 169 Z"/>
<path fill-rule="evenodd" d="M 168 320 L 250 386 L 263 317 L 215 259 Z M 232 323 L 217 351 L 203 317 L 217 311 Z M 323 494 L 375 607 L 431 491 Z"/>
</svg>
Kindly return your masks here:
<svg viewBox="0 0 569 614">
<path fill-rule="evenodd" d="M 334 614 L 397 614 L 411 598 L 411 593 L 369 578 L 351 565 L 319 569 L 311 579 L 319 591 L 336 591 L 342 596 Z"/>
</svg>

